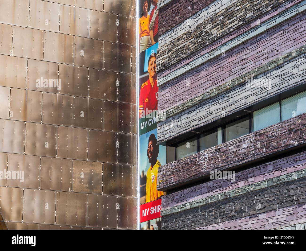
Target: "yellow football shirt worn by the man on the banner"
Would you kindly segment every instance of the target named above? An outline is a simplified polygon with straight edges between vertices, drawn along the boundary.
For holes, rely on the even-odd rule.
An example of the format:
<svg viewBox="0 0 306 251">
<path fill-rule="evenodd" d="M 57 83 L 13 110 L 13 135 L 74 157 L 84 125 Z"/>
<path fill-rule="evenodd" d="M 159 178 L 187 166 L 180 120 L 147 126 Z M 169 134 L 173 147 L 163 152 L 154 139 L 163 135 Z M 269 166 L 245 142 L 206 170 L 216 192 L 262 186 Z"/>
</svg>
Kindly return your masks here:
<svg viewBox="0 0 306 251">
<path fill-rule="evenodd" d="M 157 200 L 160 196 L 164 195 L 164 192 L 157 191 L 156 185 L 157 185 L 157 172 L 158 168 L 162 166 L 157 160 L 156 164 L 153 166 L 151 170 L 151 166 L 147 170 L 147 185 L 146 185 L 146 203 Z"/>
</svg>

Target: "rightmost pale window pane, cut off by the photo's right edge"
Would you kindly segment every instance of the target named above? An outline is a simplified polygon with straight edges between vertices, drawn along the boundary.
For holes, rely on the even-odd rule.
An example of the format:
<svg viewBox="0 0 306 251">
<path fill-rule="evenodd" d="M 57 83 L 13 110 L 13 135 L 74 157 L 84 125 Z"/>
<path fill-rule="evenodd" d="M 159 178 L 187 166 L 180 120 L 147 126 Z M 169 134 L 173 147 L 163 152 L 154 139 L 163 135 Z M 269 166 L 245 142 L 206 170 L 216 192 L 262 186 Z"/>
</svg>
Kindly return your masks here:
<svg viewBox="0 0 306 251">
<path fill-rule="evenodd" d="M 306 112 L 306 91 L 281 101 L 282 121 Z"/>
</svg>

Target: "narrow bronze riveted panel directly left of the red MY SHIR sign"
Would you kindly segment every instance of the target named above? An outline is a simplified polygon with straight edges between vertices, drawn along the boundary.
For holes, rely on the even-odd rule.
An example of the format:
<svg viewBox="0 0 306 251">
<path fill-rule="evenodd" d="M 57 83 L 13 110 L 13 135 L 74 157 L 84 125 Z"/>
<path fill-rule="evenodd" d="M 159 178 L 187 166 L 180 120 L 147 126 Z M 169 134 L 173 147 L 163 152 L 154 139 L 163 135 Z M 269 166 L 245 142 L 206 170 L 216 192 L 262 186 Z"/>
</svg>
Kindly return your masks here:
<svg viewBox="0 0 306 251">
<path fill-rule="evenodd" d="M 137 229 L 137 198 L 118 197 L 118 227 Z"/>
</svg>

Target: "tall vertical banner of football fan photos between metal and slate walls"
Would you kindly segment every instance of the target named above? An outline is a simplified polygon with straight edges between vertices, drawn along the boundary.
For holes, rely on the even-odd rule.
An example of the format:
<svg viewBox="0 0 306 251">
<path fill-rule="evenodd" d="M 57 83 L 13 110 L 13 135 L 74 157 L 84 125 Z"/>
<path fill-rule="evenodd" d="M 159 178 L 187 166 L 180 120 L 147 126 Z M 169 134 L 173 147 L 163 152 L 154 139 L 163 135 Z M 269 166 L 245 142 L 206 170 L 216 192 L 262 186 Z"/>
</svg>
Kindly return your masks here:
<svg viewBox="0 0 306 251">
<path fill-rule="evenodd" d="M 158 86 L 158 0 L 139 0 L 139 181 L 140 229 L 161 229 L 161 197 L 157 173 L 166 164 L 166 146 L 157 144 Z"/>
</svg>

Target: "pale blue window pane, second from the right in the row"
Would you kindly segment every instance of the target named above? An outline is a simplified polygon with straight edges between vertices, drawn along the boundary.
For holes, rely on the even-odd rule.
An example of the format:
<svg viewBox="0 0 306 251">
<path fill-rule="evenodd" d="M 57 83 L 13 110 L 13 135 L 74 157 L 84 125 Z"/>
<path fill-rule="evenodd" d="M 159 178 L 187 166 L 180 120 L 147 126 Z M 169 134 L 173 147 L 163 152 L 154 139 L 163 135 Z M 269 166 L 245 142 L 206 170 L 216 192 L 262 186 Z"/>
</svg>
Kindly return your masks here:
<svg viewBox="0 0 306 251">
<path fill-rule="evenodd" d="M 253 112 L 254 131 L 281 122 L 279 102 Z"/>
</svg>

